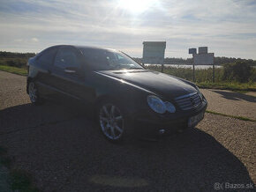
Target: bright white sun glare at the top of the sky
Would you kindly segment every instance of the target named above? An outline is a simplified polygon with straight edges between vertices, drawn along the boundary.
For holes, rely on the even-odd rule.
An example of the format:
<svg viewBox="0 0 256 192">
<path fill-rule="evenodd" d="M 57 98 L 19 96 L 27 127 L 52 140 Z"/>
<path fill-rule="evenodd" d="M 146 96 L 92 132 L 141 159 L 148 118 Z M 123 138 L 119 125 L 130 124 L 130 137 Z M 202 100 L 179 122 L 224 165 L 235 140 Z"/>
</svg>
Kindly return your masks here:
<svg viewBox="0 0 256 192">
<path fill-rule="evenodd" d="M 134 14 L 147 11 L 154 4 L 155 0 L 118 0 L 118 7 Z"/>
</svg>

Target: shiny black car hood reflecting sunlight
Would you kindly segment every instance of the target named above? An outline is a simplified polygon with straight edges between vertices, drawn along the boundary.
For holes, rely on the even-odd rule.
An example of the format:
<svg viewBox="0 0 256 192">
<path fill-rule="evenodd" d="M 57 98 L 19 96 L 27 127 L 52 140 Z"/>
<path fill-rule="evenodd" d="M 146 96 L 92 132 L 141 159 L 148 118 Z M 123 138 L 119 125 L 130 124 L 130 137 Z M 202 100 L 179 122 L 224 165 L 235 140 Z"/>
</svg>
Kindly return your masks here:
<svg viewBox="0 0 256 192">
<path fill-rule="evenodd" d="M 98 74 L 123 79 L 150 92 L 165 97 L 175 98 L 197 90 L 184 81 L 154 70 L 101 70 Z"/>
</svg>

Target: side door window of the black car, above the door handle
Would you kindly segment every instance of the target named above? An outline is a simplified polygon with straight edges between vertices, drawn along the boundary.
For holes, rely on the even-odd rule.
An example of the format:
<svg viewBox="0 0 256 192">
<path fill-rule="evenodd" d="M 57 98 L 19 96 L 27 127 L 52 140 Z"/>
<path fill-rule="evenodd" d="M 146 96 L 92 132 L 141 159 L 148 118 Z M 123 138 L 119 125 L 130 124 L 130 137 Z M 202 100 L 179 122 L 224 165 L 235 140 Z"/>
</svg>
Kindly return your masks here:
<svg viewBox="0 0 256 192">
<path fill-rule="evenodd" d="M 78 55 L 76 55 L 72 48 L 60 48 L 54 65 L 62 69 L 66 67 L 79 67 Z"/>
</svg>

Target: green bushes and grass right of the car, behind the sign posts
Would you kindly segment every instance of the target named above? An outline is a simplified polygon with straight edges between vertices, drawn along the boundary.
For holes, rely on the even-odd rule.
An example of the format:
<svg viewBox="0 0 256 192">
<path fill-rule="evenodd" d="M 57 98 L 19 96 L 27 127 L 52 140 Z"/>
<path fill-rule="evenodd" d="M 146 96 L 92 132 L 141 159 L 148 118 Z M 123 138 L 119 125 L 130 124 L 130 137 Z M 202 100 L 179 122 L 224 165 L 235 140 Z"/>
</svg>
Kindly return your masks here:
<svg viewBox="0 0 256 192">
<path fill-rule="evenodd" d="M 160 65 L 149 65 L 149 70 L 161 71 Z M 188 68 L 164 66 L 164 73 L 192 81 L 193 71 Z M 226 63 L 222 68 L 215 68 L 215 83 L 213 69 L 196 69 L 195 83 L 200 88 L 227 89 L 238 92 L 256 91 L 256 68 L 251 63 L 238 61 Z"/>
</svg>

